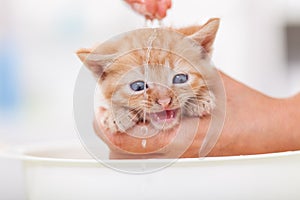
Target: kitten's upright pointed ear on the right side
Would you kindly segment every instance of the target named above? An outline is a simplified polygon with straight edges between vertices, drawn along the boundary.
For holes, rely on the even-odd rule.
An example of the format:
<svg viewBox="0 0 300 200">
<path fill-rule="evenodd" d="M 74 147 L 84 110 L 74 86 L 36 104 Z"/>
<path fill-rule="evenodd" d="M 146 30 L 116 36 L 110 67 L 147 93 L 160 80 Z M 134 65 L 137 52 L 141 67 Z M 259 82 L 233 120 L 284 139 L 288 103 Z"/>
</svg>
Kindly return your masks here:
<svg viewBox="0 0 300 200">
<path fill-rule="evenodd" d="M 198 44 L 200 44 L 204 48 L 204 50 L 210 54 L 212 51 L 212 45 L 219 29 L 219 25 L 220 19 L 212 18 L 208 20 L 206 24 L 201 26 L 199 31 L 188 37 L 198 42 Z"/>
</svg>

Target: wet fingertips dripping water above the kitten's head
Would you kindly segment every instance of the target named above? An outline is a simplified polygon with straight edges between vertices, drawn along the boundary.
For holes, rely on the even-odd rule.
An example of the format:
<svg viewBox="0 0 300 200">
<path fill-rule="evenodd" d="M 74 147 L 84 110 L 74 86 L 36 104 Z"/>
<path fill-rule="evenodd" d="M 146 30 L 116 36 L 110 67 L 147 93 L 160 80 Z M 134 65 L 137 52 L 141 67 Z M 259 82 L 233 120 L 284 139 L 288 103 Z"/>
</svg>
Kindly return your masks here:
<svg viewBox="0 0 300 200">
<path fill-rule="evenodd" d="M 171 8 L 171 0 L 125 0 L 137 13 L 146 19 L 161 20 L 166 17 L 167 10 Z"/>
</svg>

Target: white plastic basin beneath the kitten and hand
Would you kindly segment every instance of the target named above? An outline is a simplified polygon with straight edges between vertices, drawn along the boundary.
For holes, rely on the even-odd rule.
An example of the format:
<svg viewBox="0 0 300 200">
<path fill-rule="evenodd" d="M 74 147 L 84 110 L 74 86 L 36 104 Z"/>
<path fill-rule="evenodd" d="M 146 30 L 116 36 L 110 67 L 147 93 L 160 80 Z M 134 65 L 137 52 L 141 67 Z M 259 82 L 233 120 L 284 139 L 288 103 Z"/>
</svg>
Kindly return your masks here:
<svg viewBox="0 0 300 200">
<path fill-rule="evenodd" d="M 300 151 L 178 159 L 153 173 L 133 175 L 92 159 L 80 144 L 22 148 L 30 200 L 300 199 Z M 106 160 L 123 169 L 161 166 L 167 159 Z"/>
</svg>

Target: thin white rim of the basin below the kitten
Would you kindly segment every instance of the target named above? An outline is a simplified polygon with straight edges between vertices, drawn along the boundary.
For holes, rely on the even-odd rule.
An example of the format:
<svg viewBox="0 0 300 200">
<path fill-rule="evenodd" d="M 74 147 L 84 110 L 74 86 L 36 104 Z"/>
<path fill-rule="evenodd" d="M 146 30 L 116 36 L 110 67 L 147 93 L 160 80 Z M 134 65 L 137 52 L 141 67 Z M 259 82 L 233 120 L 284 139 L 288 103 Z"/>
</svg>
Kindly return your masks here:
<svg viewBox="0 0 300 200">
<path fill-rule="evenodd" d="M 83 151 L 87 152 L 91 158 L 54 158 L 54 157 L 43 157 L 37 155 L 30 155 L 33 152 L 63 149 L 70 146 L 79 146 Z M 214 162 L 228 162 L 228 161 L 247 161 L 247 160 L 261 160 L 261 159 L 271 159 L 271 158 L 282 158 L 288 156 L 300 156 L 300 150 L 295 151 L 285 151 L 285 152 L 272 152 L 265 154 L 252 154 L 252 155 L 234 155 L 234 156 L 218 156 L 218 157 L 200 157 L 200 158 L 178 158 L 178 159 L 116 159 L 116 160 L 96 160 L 93 156 L 84 148 L 81 143 L 74 142 L 51 142 L 51 143 L 36 143 L 36 144 L 26 144 L 22 146 L 10 147 L 3 153 L 6 157 L 14 158 L 27 162 L 47 162 L 47 163 L 78 163 L 78 164 L 99 164 L 105 162 L 107 164 L 134 164 L 134 163 L 170 163 L 170 160 L 174 160 L 177 164 L 195 164 L 195 163 L 214 163 Z M 174 162 L 172 162 L 174 163 Z"/>
</svg>

